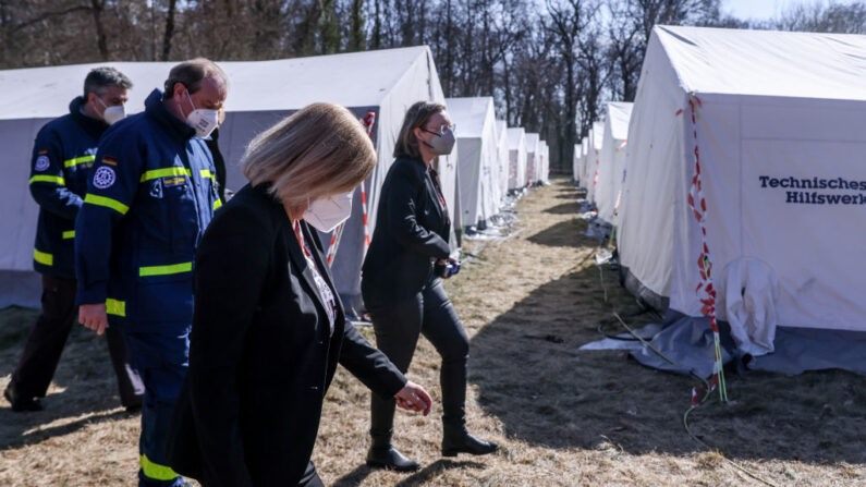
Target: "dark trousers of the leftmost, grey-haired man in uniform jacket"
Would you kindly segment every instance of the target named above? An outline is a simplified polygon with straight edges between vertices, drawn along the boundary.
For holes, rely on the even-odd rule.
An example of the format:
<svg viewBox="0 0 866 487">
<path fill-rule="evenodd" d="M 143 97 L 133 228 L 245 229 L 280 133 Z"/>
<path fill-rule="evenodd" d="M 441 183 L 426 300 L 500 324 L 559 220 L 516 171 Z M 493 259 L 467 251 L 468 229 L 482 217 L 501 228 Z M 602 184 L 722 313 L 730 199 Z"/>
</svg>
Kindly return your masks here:
<svg viewBox="0 0 866 487">
<path fill-rule="evenodd" d="M 12 373 L 9 387 L 20 398 L 41 398 L 48 391 L 72 325 L 77 321 L 75 279 L 42 275 L 42 313 L 31 328 L 24 353 Z M 144 385 L 130 365 L 130 353 L 123 334 L 115 328 L 106 329 L 111 365 L 118 376 L 120 402 L 123 406 L 142 404 Z"/>
</svg>

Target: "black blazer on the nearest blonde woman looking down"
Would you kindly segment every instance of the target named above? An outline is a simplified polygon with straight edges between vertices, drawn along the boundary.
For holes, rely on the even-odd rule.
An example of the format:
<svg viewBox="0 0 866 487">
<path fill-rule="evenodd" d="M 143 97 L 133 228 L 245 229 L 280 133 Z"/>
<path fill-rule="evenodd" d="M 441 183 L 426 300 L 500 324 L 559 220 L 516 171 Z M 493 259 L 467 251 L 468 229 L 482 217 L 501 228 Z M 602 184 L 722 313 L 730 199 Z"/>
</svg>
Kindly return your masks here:
<svg viewBox="0 0 866 487">
<path fill-rule="evenodd" d="M 301 226 L 322 267 L 316 232 Z M 175 471 L 207 487 L 294 486 L 338 362 L 382 397 L 403 388 L 337 301 L 329 338 L 291 220 L 266 185 L 244 186 L 217 211 L 195 263 L 190 369 L 167 446 Z"/>
</svg>

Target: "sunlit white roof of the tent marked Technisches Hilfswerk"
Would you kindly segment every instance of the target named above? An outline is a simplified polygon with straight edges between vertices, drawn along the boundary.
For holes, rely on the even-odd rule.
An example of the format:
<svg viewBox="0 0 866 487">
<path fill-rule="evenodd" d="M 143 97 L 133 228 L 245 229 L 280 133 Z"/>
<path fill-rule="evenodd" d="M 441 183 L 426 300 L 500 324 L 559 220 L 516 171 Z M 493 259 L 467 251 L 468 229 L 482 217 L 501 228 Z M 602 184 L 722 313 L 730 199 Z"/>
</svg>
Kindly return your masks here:
<svg viewBox="0 0 866 487">
<path fill-rule="evenodd" d="M 866 36 L 654 27 L 690 93 L 866 100 Z"/>
</svg>

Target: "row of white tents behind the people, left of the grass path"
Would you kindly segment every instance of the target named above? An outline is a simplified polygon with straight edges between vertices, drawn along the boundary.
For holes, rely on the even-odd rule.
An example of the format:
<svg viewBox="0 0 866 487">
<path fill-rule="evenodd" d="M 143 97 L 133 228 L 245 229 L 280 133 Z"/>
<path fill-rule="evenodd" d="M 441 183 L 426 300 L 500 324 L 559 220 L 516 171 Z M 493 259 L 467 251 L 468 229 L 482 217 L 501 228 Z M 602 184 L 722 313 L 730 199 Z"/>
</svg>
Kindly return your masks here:
<svg viewBox="0 0 866 487">
<path fill-rule="evenodd" d="M 40 281 L 33 272 L 33 243 L 38 208 L 29 195 L 29 160 L 38 130 L 68 112 L 81 95 L 87 72 L 99 64 L 77 64 L 0 71 L 0 307 L 38 305 Z M 171 62 L 107 63 L 134 83 L 127 112 L 144 108 L 144 99 L 161 88 Z M 474 226 L 495 215 L 508 190 L 547 179 L 546 146 L 529 146 L 523 129 L 505 129 L 497 122 L 490 98 L 446 100 L 427 47 L 255 62 L 220 62 L 230 80 L 225 122 L 219 145 L 227 161 L 227 186 L 246 184 L 239 161 L 249 141 L 282 118 L 316 101 L 342 105 L 358 119 L 373 119 L 371 137 L 378 153 L 376 169 L 357 190 L 353 215 L 342 232 L 332 271 L 338 291 L 349 309 L 358 312 L 361 264 L 366 236 L 376 224 L 380 187 L 393 157 L 393 147 L 406 109 L 418 100 L 446 104 L 458 123 L 454 153 L 440 157 L 437 170 L 455 229 L 451 244 L 459 245 L 463 226 Z M 337 73 L 340 73 L 339 75 Z M 453 109 L 452 109 L 453 106 Z M 468 108 L 466 108 L 468 106 Z M 477 115 L 476 112 L 483 112 Z M 461 131 L 463 133 L 461 134 Z M 512 150 L 512 131 L 520 131 L 519 148 Z M 491 138 L 492 137 L 492 138 Z M 472 139 L 478 139 L 473 146 Z M 535 135 L 535 141 L 538 141 Z M 507 151 L 508 150 L 508 151 Z M 507 172 L 513 157 L 524 161 L 522 174 Z M 532 161 L 526 165 L 526 160 Z M 541 162 L 535 162 L 541 160 Z M 539 168 L 545 168 L 544 172 Z M 517 168 L 514 168 L 515 170 Z M 536 172 L 532 172 L 532 171 Z M 365 218 L 365 214 L 366 217 Z M 365 227 L 365 221 L 367 227 Z M 322 235 L 330 241 L 330 235 Z"/>
</svg>

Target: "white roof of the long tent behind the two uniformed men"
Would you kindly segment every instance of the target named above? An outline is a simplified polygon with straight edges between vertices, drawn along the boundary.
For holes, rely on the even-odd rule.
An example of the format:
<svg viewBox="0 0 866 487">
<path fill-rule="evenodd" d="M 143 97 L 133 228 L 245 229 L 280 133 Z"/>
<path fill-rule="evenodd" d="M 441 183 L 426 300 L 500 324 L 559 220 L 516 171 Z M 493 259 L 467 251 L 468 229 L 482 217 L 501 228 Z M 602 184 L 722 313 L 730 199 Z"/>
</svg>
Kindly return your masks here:
<svg viewBox="0 0 866 487">
<path fill-rule="evenodd" d="M 292 110 L 316 101 L 375 107 L 417 61 L 426 46 L 272 61 L 218 62 L 229 76 L 227 111 Z M 84 77 L 110 65 L 129 76 L 129 112 L 137 112 L 154 88 L 162 88 L 174 62 L 101 62 L 0 71 L 0 119 L 53 118 L 81 95 Z M 321 94 L 328 94 L 322 99 Z"/>
</svg>

